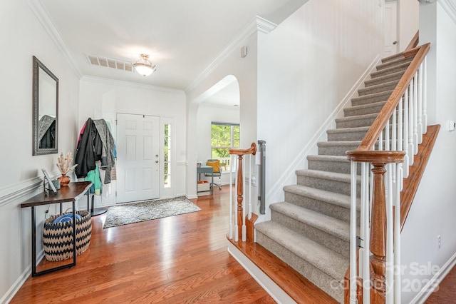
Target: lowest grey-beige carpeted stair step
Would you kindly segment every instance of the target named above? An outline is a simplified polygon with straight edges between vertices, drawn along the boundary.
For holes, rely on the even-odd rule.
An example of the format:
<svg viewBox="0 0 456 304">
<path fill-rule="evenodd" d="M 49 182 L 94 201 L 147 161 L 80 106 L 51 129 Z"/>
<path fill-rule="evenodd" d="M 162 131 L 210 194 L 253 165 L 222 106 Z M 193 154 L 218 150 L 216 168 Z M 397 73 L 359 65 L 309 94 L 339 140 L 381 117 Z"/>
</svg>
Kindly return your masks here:
<svg viewBox="0 0 456 304">
<path fill-rule="evenodd" d="M 349 262 L 342 255 L 274 221 L 257 223 L 255 228 L 332 278 L 343 279 Z"/>
</svg>

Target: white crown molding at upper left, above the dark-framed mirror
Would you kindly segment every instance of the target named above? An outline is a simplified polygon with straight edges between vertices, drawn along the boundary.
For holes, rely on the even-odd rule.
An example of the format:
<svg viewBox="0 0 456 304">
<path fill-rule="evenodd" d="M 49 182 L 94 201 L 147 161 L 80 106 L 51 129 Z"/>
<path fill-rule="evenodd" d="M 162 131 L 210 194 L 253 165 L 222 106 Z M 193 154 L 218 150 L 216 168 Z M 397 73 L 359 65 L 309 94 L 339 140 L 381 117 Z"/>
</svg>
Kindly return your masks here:
<svg viewBox="0 0 456 304">
<path fill-rule="evenodd" d="M 63 41 L 60 32 L 58 31 L 56 25 L 53 23 L 51 16 L 49 16 L 46 9 L 44 9 L 43 4 L 39 0 L 27 0 L 27 4 L 30 7 L 33 14 L 36 16 L 36 19 L 40 22 L 41 26 L 45 29 L 46 33 L 48 33 L 49 37 L 54 44 L 56 44 L 57 49 L 61 51 L 63 57 L 68 61 L 71 68 L 73 69 L 74 73 L 78 78 L 81 78 L 82 73 L 81 70 L 78 68 L 76 61 L 71 56 L 71 53 L 66 45 L 65 41 Z"/>
</svg>

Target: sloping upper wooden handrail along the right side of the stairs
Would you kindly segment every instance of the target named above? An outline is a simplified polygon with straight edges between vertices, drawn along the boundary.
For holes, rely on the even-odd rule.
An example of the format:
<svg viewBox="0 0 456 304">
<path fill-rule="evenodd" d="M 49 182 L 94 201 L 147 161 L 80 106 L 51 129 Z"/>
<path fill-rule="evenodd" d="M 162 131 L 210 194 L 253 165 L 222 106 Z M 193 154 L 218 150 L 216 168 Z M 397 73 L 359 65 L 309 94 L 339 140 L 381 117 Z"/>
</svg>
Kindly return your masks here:
<svg viewBox="0 0 456 304">
<path fill-rule="evenodd" d="M 385 128 L 390 117 L 393 115 L 394 109 L 396 106 L 398 106 L 400 99 L 405 93 L 405 90 L 408 88 L 408 85 L 410 84 L 410 81 L 412 81 L 416 71 L 418 71 L 420 68 L 420 64 L 425 59 L 425 56 L 429 49 L 430 44 L 424 44 L 423 46 L 416 48 L 418 52 L 415 55 L 415 58 L 408 66 L 402 78 L 400 78 L 398 85 L 394 88 L 390 98 L 388 98 L 385 106 L 383 106 L 380 113 L 378 113 L 377 118 L 375 118 L 375 121 L 372 123 L 371 128 L 369 128 L 369 131 L 366 133 L 366 136 L 364 136 L 363 141 L 361 141 L 361 144 L 356 150 L 372 150 L 373 146 L 375 145 L 375 141 L 377 141 L 378 136 L 380 136 L 383 128 Z M 413 51 L 415 51 L 415 49 L 413 49 Z"/>
</svg>

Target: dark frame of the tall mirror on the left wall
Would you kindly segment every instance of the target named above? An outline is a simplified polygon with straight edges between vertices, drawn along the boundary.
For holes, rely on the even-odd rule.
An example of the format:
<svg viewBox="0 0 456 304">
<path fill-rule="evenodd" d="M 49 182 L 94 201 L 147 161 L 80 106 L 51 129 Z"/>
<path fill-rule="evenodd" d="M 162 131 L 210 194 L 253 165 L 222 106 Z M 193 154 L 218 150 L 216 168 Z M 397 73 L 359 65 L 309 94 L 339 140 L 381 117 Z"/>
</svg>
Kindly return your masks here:
<svg viewBox="0 0 456 304">
<path fill-rule="evenodd" d="M 54 148 L 40 148 L 38 123 L 40 120 L 40 69 L 56 81 L 56 138 Z M 58 78 L 44 64 L 33 56 L 33 153 L 32 155 L 53 154 L 58 151 Z"/>
</svg>

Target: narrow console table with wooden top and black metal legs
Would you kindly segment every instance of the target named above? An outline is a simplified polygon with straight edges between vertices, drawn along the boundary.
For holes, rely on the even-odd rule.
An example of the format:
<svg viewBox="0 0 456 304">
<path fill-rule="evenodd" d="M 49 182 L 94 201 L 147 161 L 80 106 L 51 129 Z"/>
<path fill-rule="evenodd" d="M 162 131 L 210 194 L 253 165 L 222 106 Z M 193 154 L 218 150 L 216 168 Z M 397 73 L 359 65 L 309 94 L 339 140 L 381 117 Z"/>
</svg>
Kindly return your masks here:
<svg viewBox="0 0 456 304">
<path fill-rule="evenodd" d="M 57 192 L 48 191 L 48 195 L 44 192 L 39 193 L 33 198 L 28 199 L 21 203 L 21 208 L 31 207 L 31 276 L 43 275 L 44 273 L 51 273 L 52 271 L 60 270 L 63 268 L 70 268 L 76 265 L 76 201 L 78 201 L 84 193 L 86 193 L 92 183 L 90 181 L 80 181 L 69 183 L 68 186 L 63 186 Z M 46 191 L 47 192 L 47 191 Z M 56 268 L 46 269 L 36 272 L 36 216 L 35 207 L 49 205 L 53 203 L 60 203 L 60 213 L 62 213 L 62 203 L 73 202 L 73 263 L 61 265 Z M 87 196 L 87 209 L 88 209 L 88 196 Z"/>
</svg>

